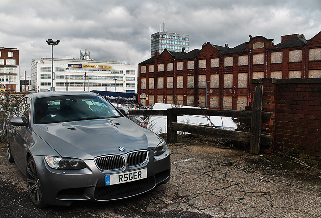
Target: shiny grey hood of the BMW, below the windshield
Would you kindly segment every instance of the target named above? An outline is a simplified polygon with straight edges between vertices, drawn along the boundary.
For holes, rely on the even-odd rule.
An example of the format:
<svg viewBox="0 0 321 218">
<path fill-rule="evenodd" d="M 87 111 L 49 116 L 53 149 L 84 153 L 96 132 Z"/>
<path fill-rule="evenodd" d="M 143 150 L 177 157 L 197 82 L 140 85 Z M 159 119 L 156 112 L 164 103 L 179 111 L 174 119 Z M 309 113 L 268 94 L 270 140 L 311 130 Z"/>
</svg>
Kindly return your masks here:
<svg viewBox="0 0 321 218">
<path fill-rule="evenodd" d="M 65 123 L 34 124 L 33 132 L 63 157 L 93 159 L 108 154 L 153 149 L 158 136 L 125 117 Z"/>
</svg>

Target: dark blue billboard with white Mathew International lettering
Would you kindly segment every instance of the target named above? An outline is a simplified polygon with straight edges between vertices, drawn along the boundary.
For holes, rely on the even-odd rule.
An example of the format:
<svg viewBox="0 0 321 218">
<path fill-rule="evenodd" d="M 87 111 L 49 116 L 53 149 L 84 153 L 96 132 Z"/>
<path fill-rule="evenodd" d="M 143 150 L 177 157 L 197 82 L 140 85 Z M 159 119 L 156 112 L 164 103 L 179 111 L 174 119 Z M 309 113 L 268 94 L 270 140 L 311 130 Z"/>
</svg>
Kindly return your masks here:
<svg viewBox="0 0 321 218">
<path fill-rule="evenodd" d="M 106 100 L 112 103 L 119 104 L 138 104 L 138 94 L 135 93 L 124 93 L 124 92 L 110 92 L 110 91 L 96 91 L 91 92 L 101 95 Z"/>
</svg>

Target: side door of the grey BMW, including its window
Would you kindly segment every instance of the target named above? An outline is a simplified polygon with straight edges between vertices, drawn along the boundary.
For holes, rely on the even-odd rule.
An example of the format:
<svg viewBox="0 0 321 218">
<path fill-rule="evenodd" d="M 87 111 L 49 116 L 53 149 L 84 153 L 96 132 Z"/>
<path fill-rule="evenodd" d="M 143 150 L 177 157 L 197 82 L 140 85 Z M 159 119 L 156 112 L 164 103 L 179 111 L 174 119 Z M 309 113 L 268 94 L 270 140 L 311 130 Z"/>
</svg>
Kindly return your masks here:
<svg viewBox="0 0 321 218">
<path fill-rule="evenodd" d="M 25 169 L 25 153 L 27 145 L 31 142 L 31 131 L 29 129 L 29 114 L 30 114 L 31 100 L 28 97 L 23 98 L 16 108 L 14 117 L 23 117 L 27 122 L 26 126 L 10 126 L 10 133 L 12 135 L 10 139 L 10 147 L 13 157 L 16 160 L 16 164 L 19 168 Z"/>
</svg>

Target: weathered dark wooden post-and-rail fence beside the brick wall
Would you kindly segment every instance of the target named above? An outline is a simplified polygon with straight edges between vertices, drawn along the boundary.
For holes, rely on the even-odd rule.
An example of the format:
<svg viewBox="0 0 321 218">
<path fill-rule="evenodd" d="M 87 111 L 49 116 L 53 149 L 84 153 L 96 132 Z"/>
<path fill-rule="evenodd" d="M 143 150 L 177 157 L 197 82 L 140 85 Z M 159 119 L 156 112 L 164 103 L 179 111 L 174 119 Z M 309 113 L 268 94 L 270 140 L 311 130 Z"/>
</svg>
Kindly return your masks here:
<svg viewBox="0 0 321 218">
<path fill-rule="evenodd" d="M 130 115 L 167 116 L 167 143 L 177 142 L 177 131 L 190 132 L 216 138 L 250 143 L 250 153 L 258 154 L 260 144 L 272 145 L 272 136 L 261 134 L 263 120 L 270 120 L 270 112 L 262 112 L 262 86 L 257 86 L 253 97 L 252 111 L 171 108 L 167 110 L 129 110 Z M 251 119 L 251 132 L 224 130 L 177 123 L 177 116 L 203 115 Z"/>
</svg>

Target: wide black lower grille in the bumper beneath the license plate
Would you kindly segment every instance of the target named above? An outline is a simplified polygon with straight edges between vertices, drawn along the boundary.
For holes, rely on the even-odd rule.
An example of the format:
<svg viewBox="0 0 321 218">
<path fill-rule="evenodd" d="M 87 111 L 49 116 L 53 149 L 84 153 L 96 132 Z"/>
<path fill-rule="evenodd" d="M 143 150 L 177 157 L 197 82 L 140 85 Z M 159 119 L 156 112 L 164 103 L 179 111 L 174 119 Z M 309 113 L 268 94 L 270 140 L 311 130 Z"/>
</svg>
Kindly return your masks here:
<svg viewBox="0 0 321 218">
<path fill-rule="evenodd" d="M 128 183 L 97 187 L 94 197 L 96 200 L 114 200 L 134 196 L 155 187 L 153 177 L 136 180 Z"/>
</svg>

